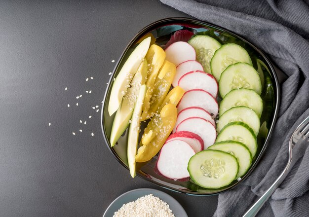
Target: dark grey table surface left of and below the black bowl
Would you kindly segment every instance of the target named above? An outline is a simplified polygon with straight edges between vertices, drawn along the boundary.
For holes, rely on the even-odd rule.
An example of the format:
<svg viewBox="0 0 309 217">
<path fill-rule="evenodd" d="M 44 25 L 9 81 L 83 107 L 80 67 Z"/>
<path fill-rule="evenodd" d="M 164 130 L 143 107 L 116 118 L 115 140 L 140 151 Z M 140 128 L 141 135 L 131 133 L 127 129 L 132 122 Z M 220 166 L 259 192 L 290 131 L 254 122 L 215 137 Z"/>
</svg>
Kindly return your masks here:
<svg viewBox="0 0 309 217">
<path fill-rule="evenodd" d="M 0 2 L 0 217 L 102 217 L 142 187 L 172 195 L 190 217 L 213 215 L 216 196 L 131 179 L 92 109 L 130 39 L 173 16 L 186 15 L 157 0 Z"/>
</svg>

